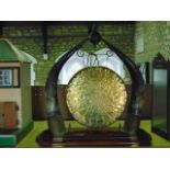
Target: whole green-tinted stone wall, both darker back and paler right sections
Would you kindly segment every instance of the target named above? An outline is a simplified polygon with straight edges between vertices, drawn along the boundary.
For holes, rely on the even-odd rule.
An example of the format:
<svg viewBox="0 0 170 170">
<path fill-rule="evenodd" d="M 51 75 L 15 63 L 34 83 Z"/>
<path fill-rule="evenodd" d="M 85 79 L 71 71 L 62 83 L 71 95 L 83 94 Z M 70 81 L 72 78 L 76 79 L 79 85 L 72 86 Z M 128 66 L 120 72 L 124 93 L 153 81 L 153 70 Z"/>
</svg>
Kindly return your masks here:
<svg viewBox="0 0 170 170">
<path fill-rule="evenodd" d="M 41 26 L 4 26 L 3 36 L 8 37 L 16 47 L 31 54 L 37 59 L 35 65 L 35 84 L 44 86 L 46 77 L 54 61 L 64 52 L 70 49 L 78 42 L 87 37 L 87 26 L 48 26 L 48 54 L 49 59 L 43 59 L 43 37 Z M 104 38 L 113 43 L 136 63 L 152 61 L 159 52 L 170 58 L 170 22 L 140 21 L 136 24 L 106 24 L 99 27 Z M 144 37 L 144 52 L 137 53 L 137 41 Z M 97 49 L 88 44 L 84 50 L 98 50 L 105 47 L 99 44 Z"/>
</svg>

